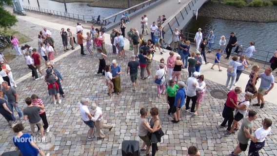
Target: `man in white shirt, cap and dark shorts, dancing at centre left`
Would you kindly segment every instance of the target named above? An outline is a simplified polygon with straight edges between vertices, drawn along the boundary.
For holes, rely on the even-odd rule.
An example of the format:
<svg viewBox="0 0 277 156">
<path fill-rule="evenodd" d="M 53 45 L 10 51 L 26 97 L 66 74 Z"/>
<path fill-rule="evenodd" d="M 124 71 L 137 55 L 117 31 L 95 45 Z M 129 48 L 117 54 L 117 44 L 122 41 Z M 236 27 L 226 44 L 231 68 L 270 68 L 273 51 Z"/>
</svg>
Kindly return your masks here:
<svg viewBox="0 0 277 156">
<path fill-rule="evenodd" d="M 94 129 L 94 125 L 93 125 L 93 121 L 91 120 L 92 116 L 89 112 L 89 109 L 87 108 L 88 100 L 89 100 L 89 98 L 81 98 L 79 108 L 80 108 L 81 117 L 82 117 L 84 123 L 90 127 L 90 129 L 88 131 L 87 140 L 91 141 L 93 139 L 92 132 Z"/>
</svg>

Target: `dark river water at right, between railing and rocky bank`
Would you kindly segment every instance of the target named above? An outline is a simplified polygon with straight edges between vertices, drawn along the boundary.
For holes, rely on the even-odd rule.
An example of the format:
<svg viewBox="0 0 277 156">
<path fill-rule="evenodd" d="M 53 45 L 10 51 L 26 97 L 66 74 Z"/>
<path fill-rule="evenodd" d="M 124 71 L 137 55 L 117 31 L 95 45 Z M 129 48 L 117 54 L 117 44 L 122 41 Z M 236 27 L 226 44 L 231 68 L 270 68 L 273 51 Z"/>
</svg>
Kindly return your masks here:
<svg viewBox="0 0 277 156">
<path fill-rule="evenodd" d="M 202 29 L 203 38 L 207 37 L 210 30 L 214 31 L 217 39 L 215 40 L 214 48 L 219 48 L 219 39 L 222 35 L 227 40 L 230 38 L 232 31 L 236 33 L 238 45 L 243 45 L 244 50 L 249 47 L 249 41 L 255 41 L 256 49 L 271 53 L 274 53 L 277 48 L 277 23 L 243 22 L 198 17 L 197 20 L 192 19 L 183 30 L 185 32 L 196 33 L 198 32 L 198 28 Z M 265 52 L 263 54 L 267 55 Z M 269 57 L 271 58 L 272 54 Z"/>
</svg>

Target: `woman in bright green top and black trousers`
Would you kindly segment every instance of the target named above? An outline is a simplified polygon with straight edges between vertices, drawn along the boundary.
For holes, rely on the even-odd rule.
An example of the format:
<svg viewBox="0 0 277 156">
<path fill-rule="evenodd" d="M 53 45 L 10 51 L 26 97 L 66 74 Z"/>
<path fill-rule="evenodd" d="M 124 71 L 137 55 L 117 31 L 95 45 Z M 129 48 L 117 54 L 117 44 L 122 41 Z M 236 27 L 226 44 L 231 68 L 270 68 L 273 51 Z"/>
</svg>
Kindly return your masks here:
<svg viewBox="0 0 277 156">
<path fill-rule="evenodd" d="M 175 81 L 173 79 L 169 80 L 168 85 L 169 86 L 166 89 L 166 100 L 167 100 L 167 103 L 169 104 L 169 109 L 168 109 L 166 117 L 170 117 L 171 109 L 175 102 L 175 95 L 179 89 L 179 86 L 177 84 L 175 84 Z"/>
</svg>

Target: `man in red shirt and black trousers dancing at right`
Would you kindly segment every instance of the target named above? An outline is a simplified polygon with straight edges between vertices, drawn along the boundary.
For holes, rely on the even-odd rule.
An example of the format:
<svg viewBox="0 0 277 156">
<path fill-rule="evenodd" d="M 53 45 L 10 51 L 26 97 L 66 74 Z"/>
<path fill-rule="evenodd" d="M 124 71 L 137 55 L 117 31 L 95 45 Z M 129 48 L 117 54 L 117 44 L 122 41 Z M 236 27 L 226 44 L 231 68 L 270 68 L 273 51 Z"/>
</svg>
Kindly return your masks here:
<svg viewBox="0 0 277 156">
<path fill-rule="evenodd" d="M 234 121 L 234 113 L 233 111 L 235 110 L 235 106 L 233 105 L 233 103 L 230 101 L 230 99 L 232 98 L 234 100 L 234 103 L 237 104 L 237 95 L 241 93 L 241 88 L 240 87 L 236 87 L 235 90 L 230 91 L 227 94 L 227 99 L 226 102 L 224 104 L 224 109 L 222 112 L 222 117 L 224 118 L 223 122 L 220 124 L 220 127 L 223 128 L 225 127 L 227 121 L 228 121 L 228 128 L 226 131 L 230 131 L 232 123 Z"/>
</svg>

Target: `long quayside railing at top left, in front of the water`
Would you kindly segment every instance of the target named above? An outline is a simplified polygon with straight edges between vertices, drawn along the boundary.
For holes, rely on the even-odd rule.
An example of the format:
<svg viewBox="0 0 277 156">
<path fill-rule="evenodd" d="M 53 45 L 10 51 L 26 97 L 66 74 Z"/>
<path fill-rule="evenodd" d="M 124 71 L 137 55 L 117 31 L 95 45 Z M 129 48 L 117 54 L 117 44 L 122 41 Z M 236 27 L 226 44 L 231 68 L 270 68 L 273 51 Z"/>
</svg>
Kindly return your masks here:
<svg viewBox="0 0 277 156">
<path fill-rule="evenodd" d="M 36 12 L 44 15 L 56 16 L 61 19 L 66 20 L 74 20 L 78 22 L 91 22 L 92 19 L 97 19 L 97 16 L 90 16 L 90 15 L 79 15 L 79 14 L 72 14 L 72 13 L 65 13 L 61 11 L 55 11 L 50 9 L 41 9 L 37 7 L 25 6 L 23 5 L 23 9 L 31 12 Z"/>
</svg>

